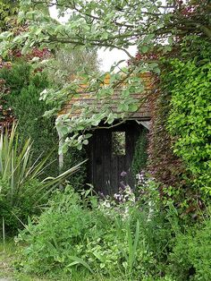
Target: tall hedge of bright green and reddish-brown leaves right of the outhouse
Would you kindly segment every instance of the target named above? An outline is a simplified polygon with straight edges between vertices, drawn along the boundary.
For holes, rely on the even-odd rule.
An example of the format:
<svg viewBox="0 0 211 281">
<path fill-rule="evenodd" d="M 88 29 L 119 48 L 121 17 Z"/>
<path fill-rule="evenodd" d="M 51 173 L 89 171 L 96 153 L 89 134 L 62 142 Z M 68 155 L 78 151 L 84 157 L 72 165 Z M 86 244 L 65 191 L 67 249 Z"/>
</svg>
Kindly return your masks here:
<svg viewBox="0 0 211 281">
<path fill-rule="evenodd" d="M 159 90 L 151 98 L 148 170 L 182 215 L 196 214 L 210 194 L 210 57 L 206 39 L 183 38 L 162 61 Z"/>
</svg>

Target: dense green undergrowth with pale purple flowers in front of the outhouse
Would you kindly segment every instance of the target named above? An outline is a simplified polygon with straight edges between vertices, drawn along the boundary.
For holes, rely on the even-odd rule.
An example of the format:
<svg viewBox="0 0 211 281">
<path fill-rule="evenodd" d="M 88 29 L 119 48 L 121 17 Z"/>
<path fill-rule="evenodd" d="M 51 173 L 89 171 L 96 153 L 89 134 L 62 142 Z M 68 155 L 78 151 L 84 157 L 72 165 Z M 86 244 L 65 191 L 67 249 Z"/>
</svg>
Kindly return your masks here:
<svg viewBox="0 0 211 281">
<path fill-rule="evenodd" d="M 159 199 L 156 183 L 137 188 L 139 195 L 125 186 L 105 199 L 71 186 L 56 192 L 16 239 L 24 245 L 18 269 L 51 277 L 210 280 L 208 211 L 201 224 L 184 226 L 173 205 Z"/>
</svg>

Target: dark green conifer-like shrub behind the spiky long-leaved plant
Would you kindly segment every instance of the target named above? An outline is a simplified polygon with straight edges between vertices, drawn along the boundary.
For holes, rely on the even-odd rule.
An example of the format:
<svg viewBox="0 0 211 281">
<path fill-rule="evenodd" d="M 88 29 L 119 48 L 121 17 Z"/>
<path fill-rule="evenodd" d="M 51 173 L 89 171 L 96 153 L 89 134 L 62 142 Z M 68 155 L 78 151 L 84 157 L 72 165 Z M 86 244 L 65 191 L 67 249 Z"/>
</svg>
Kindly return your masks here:
<svg viewBox="0 0 211 281">
<path fill-rule="evenodd" d="M 47 106 L 39 101 L 39 93 L 47 87 L 46 74 L 33 72 L 32 66 L 26 62 L 14 63 L 11 69 L 2 69 L 0 77 L 5 82 L 7 92 L 3 93 L 7 106 L 18 120 L 17 131 L 21 140 L 30 138 L 33 148 L 33 160 L 46 155 L 51 149 L 55 152 L 49 158 L 48 175 L 58 175 L 57 147 L 58 136 L 54 118 L 46 119 L 43 113 Z"/>
</svg>

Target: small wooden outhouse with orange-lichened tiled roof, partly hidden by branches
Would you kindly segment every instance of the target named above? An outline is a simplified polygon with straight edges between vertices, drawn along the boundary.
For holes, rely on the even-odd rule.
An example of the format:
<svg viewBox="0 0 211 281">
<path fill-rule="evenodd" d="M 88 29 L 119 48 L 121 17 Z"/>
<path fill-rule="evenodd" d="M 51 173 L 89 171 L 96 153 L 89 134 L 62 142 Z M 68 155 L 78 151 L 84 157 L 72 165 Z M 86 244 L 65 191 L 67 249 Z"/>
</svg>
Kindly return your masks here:
<svg viewBox="0 0 211 281">
<path fill-rule="evenodd" d="M 154 90 L 154 80 L 152 74 L 147 72 L 141 74 L 140 79 L 145 84 L 144 92 L 133 94 L 136 100 L 142 99 L 143 95 L 148 95 Z M 109 78 L 105 81 L 109 83 Z M 112 109 L 116 110 L 116 105 L 120 101 L 121 87 L 114 92 L 114 104 Z M 74 115 L 80 115 L 80 112 L 72 111 L 75 103 L 83 106 L 92 105 L 94 98 L 87 92 L 80 92 L 77 98 L 71 98 L 61 114 L 70 113 L 70 118 Z M 100 105 L 98 105 L 100 110 Z M 103 129 L 95 130 L 87 146 L 88 152 L 88 179 L 97 192 L 104 194 L 114 194 L 118 192 L 121 182 L 133 185 L 134 176 L 131 174 L 131 163 L 134 156 L 136 141 L 144 127 L 149 129 L 150 110 L 148 102 L 141 104 L 134 113 L 129 113 L 128 118 L 121 123 L 121 120 L 115 120 L 113 125 Z M 118 124 L 118 125 L 117 125 Z"/>
</svg>

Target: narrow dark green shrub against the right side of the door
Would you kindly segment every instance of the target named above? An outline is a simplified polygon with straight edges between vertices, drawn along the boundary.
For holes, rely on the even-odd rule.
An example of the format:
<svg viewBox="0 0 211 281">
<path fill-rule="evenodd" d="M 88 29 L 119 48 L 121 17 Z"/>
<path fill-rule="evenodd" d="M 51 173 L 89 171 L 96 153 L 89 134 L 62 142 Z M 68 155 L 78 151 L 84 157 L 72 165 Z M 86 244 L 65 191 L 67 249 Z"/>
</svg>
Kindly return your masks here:
<svg viewBox="0 0 211 281">
<path fill-rule="evenodd" d="M 143 128 L 139 134 L 139 138 L 135 145 L 134 156 L 132 159 L 131 170 L 134 176 L 138 175 L 141 170 L 147 166 L 147 146 L 148 146 L 148 130 Z"/>
</svg>

